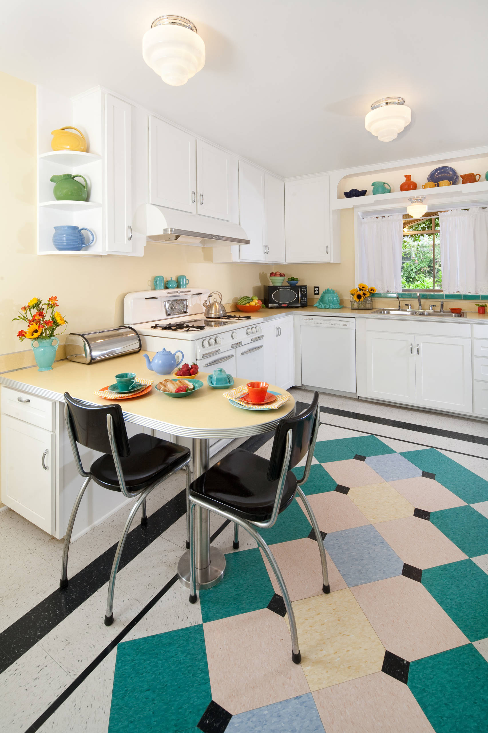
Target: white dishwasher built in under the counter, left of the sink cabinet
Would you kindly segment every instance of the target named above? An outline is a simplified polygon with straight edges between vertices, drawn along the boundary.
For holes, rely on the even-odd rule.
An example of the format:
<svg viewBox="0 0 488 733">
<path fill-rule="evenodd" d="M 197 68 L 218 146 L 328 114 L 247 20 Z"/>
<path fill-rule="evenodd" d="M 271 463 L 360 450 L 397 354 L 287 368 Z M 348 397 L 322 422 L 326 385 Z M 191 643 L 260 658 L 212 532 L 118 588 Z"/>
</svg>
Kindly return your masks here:
<svg viewBox="0 0 488 733">
<path fill-rule="evenodd" d="M 302 384 L 356 391 L 354 318 L 300 316 Z"/>
</svg>

